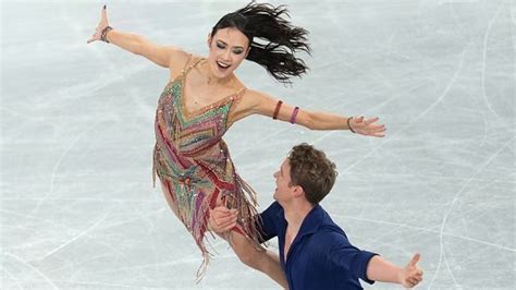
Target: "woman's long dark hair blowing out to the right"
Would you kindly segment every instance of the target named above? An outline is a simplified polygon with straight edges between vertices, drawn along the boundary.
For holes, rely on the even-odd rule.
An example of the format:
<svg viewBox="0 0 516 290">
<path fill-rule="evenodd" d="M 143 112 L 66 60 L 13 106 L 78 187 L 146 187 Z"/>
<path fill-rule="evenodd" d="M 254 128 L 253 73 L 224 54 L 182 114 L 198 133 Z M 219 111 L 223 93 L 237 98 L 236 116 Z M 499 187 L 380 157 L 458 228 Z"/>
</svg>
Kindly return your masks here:
<svg viewBox="0 0 516 290">
<path fill-rule="evenodd" d="M 228 27 L 241 31 L 250 44 L 246 59 L 266 68 L 279 82 L 290 84 L 292 76 L 299 76 L 308 70 L 305 62 L 294 53 L 300 50 L 309 55 L 310 46 L 306 37 L 308 32 L 293 26 L 283 15 L 288 16 L 284 5 L 274 8 L 253 1 L 220 19 L 211 35 L 214 36 L 217 31 Z M 255 38 L 260 41 L 255 41 Z"/>
</svg>

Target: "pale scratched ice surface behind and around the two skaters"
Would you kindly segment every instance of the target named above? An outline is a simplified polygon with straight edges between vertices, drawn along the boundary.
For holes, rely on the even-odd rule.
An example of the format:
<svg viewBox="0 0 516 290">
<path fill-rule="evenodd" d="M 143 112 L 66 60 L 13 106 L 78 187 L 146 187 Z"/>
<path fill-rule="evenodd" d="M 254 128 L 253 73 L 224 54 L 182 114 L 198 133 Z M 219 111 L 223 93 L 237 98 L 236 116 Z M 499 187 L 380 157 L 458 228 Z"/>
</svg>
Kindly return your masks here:
<svg viewBox="0 0 516 290">
<path fill-rule="evenodd" d="M 116 29 L 199 55 L 211 26 L 246 3 L 107 2 Z M 310 32 L 311 70 L 292 87 L 250 62 L 238 76 L 303 109 L 378 116 L 388 136 L 236 123 L 225 140 L 260 208 L 288 149 L 308 142 L 337 165 L 322 206 L 355 245 L 400 265 L 420 252 L 419 289 L 514 289 L 516 2 L 272 3 Z M 200 253 L 151 182 L 169 74 L 86 45 L 102 4 L 1 3 L 0 288 L 279 289 L 220 239 L 195 283 Z"/>
</svg>

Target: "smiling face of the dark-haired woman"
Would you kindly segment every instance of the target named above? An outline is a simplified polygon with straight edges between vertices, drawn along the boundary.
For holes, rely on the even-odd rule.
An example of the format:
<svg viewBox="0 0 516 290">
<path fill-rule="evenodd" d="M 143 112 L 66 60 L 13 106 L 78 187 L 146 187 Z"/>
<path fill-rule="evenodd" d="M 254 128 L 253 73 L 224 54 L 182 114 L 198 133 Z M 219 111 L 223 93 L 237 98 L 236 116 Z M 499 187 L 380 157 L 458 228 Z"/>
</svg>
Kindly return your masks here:
<svg viewBox="0 0 516 290">
<path fill-rule="evenodd" d="M 208 63 L 217 78 L 224 78 L 233 73 L 249 52 L 249 40 L 238 29 L 222 28 L 208 37 L 210 52 Z"/>
</svg>

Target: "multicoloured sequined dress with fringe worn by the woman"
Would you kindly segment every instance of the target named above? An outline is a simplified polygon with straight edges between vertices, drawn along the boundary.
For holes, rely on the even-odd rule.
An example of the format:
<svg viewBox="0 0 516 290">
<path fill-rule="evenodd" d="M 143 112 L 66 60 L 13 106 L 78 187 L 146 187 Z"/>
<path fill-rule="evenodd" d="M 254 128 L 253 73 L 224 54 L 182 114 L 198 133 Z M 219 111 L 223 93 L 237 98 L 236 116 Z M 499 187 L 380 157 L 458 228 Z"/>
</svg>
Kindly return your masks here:
<svg viewBox="0 0 516 290">
<path fill-rule="evenodd" d="M 187 73 L 202 59 L 186 67 L 161 94 L 156 110 L 153 176 L 159 177 L 164 194 L 172 200 L 174 213 L 192 233 L 204 263 L 209 262 L 205 244 L 209 208 L 222 197 L 225 205 L 239 213 L 238 231 L 258 244 L 254 191 L 236 174 L 230 152 L 222 140 L 229 129 L 228 118 L 245 89 L 211 106 L 188 112 L 184 101 Z"/>
</svg>

